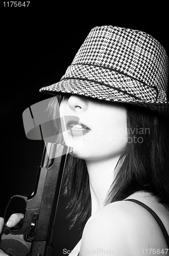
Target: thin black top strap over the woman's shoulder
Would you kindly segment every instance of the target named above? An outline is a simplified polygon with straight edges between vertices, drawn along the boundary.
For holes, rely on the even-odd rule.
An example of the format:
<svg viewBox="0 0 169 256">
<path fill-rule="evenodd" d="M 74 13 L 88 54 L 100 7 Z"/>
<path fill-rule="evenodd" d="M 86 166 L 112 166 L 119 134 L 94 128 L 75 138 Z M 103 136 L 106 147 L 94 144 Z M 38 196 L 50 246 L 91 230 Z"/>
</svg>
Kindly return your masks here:
<svg viewBox="0 0 169 256">
<path fill-rule="evenodd" d="M 164 237 L 165 237 L 167 246 L 168 246 L 168 248 L 169 248 L 169 236 L 168 236 L 168 233 L 167 233 L 167 231 L 166 231 L 166 229 L 165 229 L 165 227 L 164 227 L 162 221 L 161 221 L 160 218 L 158 217 L 158 215 L 157 215 L 150 207 L 148 207 L 146 204 L 144 204 L 144 203 L 142 203 L 142 202 L 140 202 L 140 201 L 138 201 L 138 200 L 135 200 L 135 199 L 126 199 L 126 200 L 124 200 L 124 201 L 131 201 L 131 202 L 134 202 L 134 203 L 136 203 L 136 204 L 139 204 L 139 205 L 143 206 L 145 209 L 147 209 L 147 210 L 153 215 L 153 217 L 156 219 L 157 223 L 159 224 L 159 226 L 160 226 L 160 228 L 161 228 L 161 230 L 162 230 L 162 232 L 163 232 L 163 234 L 164 234 Z"/>
</svg>

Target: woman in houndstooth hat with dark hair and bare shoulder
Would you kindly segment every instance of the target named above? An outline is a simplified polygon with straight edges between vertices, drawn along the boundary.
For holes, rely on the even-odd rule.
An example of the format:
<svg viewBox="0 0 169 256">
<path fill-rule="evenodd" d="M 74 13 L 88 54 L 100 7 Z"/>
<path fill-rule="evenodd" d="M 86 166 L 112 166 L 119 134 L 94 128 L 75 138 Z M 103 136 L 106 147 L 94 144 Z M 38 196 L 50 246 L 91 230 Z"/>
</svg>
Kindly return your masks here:
<svg viewBox="0 0 169 256">
<path fill-rule="evenodd" d="M 168 255 L 167 74 L 167 55 L 152 36 L 103 26 L 91 30 L 61 81 L 41 89 L 58 95 L 61 116 L 72 116 L 63 133 L 74 148 L 65 194 L 72 225 L 86 225 L 70 255 Z"/>
</svg>

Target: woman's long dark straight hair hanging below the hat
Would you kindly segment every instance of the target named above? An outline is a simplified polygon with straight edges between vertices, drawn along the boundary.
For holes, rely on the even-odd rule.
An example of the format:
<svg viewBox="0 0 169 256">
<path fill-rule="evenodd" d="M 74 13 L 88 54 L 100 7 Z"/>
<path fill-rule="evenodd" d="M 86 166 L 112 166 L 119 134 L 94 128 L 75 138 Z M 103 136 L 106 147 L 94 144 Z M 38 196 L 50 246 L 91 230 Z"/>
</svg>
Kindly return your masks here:
<svg viewBox="0 0 169 256">
<path fill-rule="evenodd" d="M 58 96 L 59 103 L 63 95 Z M 49 104 L 57 116 L 55 100 Z M 159 203 L 169 207 L 168 172 L 165 163 L 165 130 L 162 115 L 126 104 L 128 143 L 115 170 L 115 180 L 105 204 L 124 200 L 136 191 L 149 191 Z M 63 138 L 59 138 L 59 143 Z M 61 141 L 62 140 L 62 141 Z M 68 156 L 64 177 L 65 195 L 71 209 L 71 227 L 79 223 L 81 230 L 91 215 L 89 175 L 85 160 Z"/>
</svg>

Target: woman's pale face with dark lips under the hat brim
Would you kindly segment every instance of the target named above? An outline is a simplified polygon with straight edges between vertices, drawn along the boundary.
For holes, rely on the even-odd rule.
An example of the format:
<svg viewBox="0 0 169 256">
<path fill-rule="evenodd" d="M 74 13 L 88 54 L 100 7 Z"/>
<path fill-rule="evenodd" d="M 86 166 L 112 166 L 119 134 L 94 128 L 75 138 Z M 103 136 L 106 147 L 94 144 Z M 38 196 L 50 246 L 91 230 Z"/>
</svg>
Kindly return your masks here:
<svg viewBox="0 0 169 256">
<path fill-rule="evenodd" d="M 127 143 L 125 105 L 93 98 L 69 95 L 63 99 L 60 115 L 72 116 L 65 121 L 63 133 L 72 155 L 85 160 L 102 160 L 120 156 Z M 73 116 L 79 122 L 73 121 Z"/>
</svg>

